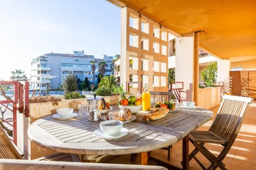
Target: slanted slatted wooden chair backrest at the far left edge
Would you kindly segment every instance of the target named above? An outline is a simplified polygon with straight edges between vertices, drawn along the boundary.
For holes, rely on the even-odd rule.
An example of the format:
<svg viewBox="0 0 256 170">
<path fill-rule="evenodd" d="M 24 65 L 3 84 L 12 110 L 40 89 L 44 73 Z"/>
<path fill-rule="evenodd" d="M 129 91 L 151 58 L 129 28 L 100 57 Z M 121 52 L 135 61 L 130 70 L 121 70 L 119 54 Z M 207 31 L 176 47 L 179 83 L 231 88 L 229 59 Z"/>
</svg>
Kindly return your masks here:
<svg viewBox="0 0 256 170">
<path fill-rule="evenodd" d="M 23 159 L 0 125 L 0 159 Z"/>
</svg>

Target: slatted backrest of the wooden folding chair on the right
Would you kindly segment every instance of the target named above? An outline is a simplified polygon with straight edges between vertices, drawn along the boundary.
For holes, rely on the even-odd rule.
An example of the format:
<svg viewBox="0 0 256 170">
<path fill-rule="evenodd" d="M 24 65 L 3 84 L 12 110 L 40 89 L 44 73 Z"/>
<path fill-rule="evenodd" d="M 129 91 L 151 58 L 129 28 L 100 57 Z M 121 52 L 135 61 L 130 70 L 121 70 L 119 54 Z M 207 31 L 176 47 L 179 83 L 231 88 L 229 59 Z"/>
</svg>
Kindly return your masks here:
<svg viewBox="0 0 256 170">
<path fill-rule="evenodd" d="M 224 95 L 209 131 L 214 132 L 228 142 L 232 142 L 232 139 L 236 139 L 243 124 L 244 113 L 252 102 L 252 98 Z"/>
</svg>

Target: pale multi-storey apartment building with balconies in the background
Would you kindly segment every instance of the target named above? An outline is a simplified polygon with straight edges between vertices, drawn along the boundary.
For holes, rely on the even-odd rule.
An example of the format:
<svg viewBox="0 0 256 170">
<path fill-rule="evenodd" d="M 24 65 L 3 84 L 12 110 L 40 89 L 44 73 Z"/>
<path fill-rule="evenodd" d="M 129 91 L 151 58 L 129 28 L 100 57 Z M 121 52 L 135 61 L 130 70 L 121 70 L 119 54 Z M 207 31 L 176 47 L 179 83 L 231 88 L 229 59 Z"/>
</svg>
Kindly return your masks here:
<svg viewBox="0 0 256 170">
<path fill-rule="evenodd" d="M 84 55 L 84 51 L 74 51 L 73 54 L 49 53 L 34 58 L 31 62 L 30 88 L 46 90 L 46 83 L 50 88 L 58 88 L 69 75 L 76 75 L 82 81 L 87 77 L 93 82 L 90 61 L 95 64 L 95 83 L 98 77 L 98 62 L 106 61 L 105 75 L 111 75 L 112 56 L 103 56 L 103 59 L 94 58 L 93 55 Z"/>
</svg>

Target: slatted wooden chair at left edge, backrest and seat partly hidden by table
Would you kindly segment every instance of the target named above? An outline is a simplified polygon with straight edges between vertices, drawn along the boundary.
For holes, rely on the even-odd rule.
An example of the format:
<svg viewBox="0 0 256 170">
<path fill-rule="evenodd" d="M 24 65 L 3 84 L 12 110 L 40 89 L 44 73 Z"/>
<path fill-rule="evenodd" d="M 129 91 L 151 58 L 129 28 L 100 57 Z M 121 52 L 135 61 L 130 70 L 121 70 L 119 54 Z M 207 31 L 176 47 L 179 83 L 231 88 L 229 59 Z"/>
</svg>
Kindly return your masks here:
<svg viewBox="0 0 256 170">
<path fill-rule="evenodd" d="M 14 147 L 11 140 L 5 133 L 5 130 L 0 126 L 0 159 L 23 159 Z M 65 162 L 79 162 L 78 155 L 57 153 L 47 157 L 41 157 L 36 160 L 42 161 L 65 161 Z"/>
</svg>

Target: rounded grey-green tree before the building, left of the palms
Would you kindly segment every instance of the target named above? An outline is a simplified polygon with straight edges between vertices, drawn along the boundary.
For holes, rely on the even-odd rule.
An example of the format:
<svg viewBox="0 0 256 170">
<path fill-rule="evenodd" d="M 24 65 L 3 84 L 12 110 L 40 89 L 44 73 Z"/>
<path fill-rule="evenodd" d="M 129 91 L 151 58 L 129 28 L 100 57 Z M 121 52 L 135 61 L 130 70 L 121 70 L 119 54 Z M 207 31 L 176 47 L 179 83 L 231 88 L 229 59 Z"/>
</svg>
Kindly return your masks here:
<svg viewBox="0 0 256 170">
<path fill-rule="evenodd" d="M 66 77 L 65 81 L 62 84 L 64 93 L 69 93 L 73 91 L 77 91 L 77 78 L 74 75 L 69 75 Z"/>
</svg>

